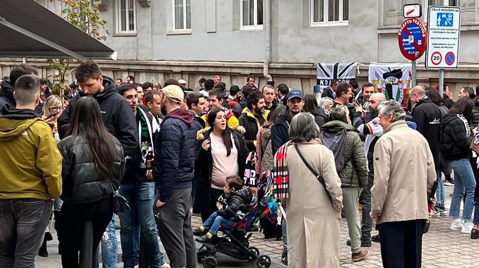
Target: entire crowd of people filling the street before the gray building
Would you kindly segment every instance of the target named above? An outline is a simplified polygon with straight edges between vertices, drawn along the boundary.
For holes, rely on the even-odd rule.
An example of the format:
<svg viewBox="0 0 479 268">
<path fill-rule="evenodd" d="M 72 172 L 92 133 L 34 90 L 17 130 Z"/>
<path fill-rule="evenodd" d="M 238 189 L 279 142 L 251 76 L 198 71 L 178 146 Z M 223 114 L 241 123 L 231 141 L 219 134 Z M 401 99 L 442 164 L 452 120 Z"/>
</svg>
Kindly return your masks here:
<svg viewBox="0 0 479 268">
<path fill-rule="evenodd" d="M 26 64 L 1 82 L 0 267 L 48 256 L 52 214 L 63 267 L 79 266 L 87 222 L 93 265 L 101 254 L 116 267 L 117 214 L 124 267 L 137 267 L 142 239 L 149 267 L 196 268 L 194 236 L 212 243 L 248 213 L 248 163 L 258 178 L 272 171 L 283 217 L 259 228 L 282 240 L 288 267 L 339 267 L 341 217 L 351 259 L 379 242 L 388 268 L 421 267 L 431 218 L 449 216 L 452 230 L 479 238 L 479 87 L 454 102 L 447 85 L 443 96 L 415 86 L 407 106 L 356 81 L 333 80 L 319 98 L 259 88 L 254 76 L 229 89 L 220 75 L 199 90 L 183 79 L 123 82 L 93 61 L 74 76 L 61 94 Z M 192 216 L 203 224 L 192 227 Z"/>
</svg>

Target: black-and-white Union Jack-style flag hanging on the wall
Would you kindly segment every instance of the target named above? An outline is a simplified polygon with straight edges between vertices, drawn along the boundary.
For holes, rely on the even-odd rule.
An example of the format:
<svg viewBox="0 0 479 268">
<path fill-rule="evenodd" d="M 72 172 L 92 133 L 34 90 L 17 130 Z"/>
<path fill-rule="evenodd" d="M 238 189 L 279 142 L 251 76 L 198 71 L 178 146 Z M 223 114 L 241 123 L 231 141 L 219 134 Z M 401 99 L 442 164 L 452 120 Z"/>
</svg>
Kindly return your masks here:
<svg viewBox="0 0 479 268">
<path fill-rule="evenodd" d="M 356 79 L 357 62 L 334 62 L 334 63 L 316 63 L 316 86 L 314 87 L 314 95 L 319 94 L 331 85 L 333 79 L 340 82 L 349 83 Z"/>
</svg>

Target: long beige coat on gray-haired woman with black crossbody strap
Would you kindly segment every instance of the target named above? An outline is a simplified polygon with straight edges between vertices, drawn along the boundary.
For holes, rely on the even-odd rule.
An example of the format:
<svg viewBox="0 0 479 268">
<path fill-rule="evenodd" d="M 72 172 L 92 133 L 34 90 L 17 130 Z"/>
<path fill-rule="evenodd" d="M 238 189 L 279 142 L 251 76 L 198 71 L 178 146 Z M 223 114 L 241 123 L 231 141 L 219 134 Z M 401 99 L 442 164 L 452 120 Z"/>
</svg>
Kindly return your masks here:
<svg viewBox="0 0 479 268">
<path fill-rule="evenodd" d="M 339 267 L 339 224 L 343 196 L 332 151 L 317 143 L 298 145 L 306 161 L 318 172 L 332 196 L 289 146 L 288 267 Z"/>
</svg>

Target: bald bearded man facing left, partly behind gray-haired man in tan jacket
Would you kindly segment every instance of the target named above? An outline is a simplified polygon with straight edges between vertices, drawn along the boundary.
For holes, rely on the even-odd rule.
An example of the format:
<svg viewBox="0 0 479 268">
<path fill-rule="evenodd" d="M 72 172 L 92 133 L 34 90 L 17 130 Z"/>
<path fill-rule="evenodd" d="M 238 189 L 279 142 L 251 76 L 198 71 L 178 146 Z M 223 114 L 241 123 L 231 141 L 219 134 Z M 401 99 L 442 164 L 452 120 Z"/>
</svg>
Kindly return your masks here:
<svg viewBox="0 0 479 268">
<path fill-rule="evenodd" d="M 379 237 L 373 235 L 371 237 L 372 219 L 369 217 L 371 211 L 371 187 L 374 182 L 373 153 L 376 141 L 383 134 L 383 128 L 379 124 L 378 106 L 381 102 L 386 101 L 383 93 L 373 93 L 369 97 L 368 112 L 363 113 L 362 118 L 355 118 L 354 126 L 358 129 L 359 134 L 366 137 L 364 141 L 364 153 L 366 155 L 366 164 L 368 168 L 368 184 L 359 196 L 359 203 L 362 206 L 361 214 L 361 246 L 370 247 L 371 239 L 379 242 Z M 356 105 L 356 110 L 363 112 L 360 105 Z M 348 241 L 349 242 L 349 241 Z"/>
</svg>

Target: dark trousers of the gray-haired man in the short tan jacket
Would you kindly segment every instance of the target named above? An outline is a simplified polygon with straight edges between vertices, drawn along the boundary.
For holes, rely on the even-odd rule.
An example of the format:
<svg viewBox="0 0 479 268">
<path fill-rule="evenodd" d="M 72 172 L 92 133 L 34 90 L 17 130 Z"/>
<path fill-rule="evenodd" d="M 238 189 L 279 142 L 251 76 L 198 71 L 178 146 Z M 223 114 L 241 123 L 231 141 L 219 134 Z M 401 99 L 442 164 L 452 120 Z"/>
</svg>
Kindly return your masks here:
<svg viewBox="0 0 479 268">
<path fill-rule="evenodd" d="M 424 219 L 378 224 L 384 268 L 421 268 Z"/>
</svg>

